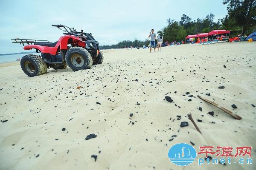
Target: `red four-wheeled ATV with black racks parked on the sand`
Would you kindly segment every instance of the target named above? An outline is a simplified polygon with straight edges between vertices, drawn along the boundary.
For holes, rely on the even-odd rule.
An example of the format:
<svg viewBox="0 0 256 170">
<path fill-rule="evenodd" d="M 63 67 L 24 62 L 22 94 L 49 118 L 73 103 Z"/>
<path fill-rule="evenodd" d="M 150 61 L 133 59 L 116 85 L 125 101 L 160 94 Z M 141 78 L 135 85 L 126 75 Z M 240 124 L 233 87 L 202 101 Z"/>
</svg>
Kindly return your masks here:
<svg viewBox="0 0 256 170">
<path fill-rule="evenodd" d="M 56 42 L 48 40 L 29 40 L 14 38 L 14 43 L 23 44 L 24 50 L 36 49 L 41 56 L 29 54 L 21 58 L 20 66 L 29 77 L 47 73 L 47 68 L 62 69 L 67 65 L 73 70 L 90 69 L 94 64 L 103 62 L 99 42 L 90 33 L 76 31 L 63 25 L 52 25 L 65 33 Z M 24 43 L 28 45 L 24 45 Z"/>
</svg>

